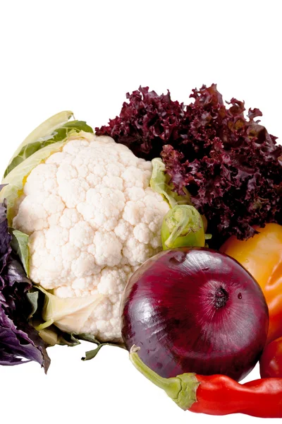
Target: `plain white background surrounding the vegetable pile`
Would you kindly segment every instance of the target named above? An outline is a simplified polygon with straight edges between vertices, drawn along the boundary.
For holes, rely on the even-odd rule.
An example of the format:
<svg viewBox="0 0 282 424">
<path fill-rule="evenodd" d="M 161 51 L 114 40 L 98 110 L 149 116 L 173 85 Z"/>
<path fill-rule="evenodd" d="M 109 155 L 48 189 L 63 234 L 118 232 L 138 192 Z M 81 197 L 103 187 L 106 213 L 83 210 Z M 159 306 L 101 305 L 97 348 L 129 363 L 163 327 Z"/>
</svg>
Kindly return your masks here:
<svg viewBox="0 0 282 424">
<path fill-rule="evenodd" d="M 263 124 L 281 138 L 279 1 L 0 4 L 1 172 L 44 119 L 73 110 L 93 127 L 106 124 L 140 85 L 169 88 L 173 100 L 188 102 L 192 88 L 217 83 L 226 100 L 259 107 Z M 47 376 L 35 363 L 0 367 L 1 423 L 259 421 L 178 410 L 135 371 L 126 351 L 106 346 L 82 363 L 89 348 L 51 348 Z"/>
</svg>

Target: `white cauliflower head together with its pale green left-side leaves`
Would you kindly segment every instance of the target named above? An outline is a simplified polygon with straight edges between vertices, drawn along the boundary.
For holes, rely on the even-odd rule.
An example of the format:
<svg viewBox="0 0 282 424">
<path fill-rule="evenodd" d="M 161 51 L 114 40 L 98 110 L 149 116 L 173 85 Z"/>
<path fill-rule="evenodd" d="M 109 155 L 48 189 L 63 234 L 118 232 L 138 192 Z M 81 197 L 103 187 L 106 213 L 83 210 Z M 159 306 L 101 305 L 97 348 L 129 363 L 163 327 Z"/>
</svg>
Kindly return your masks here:
<svg viewBox="0 0 282 424">
<path fill-rule="evenodd" d="M 29 237 L 24 256 L 45 295 L 42 320 L 37 302 L 34 319 L 44 339 L 56 340 L 47 331 L 56 326 L 75 340 L 120 343 L 123 288 L 161 250 L 169 205 L 149 187 L 151 162 L 95 136 L 85 122 L 66 122 L 71 115 L 61 112 L 27 137 L 2 196 L 10 225 Z"/>
</svg>

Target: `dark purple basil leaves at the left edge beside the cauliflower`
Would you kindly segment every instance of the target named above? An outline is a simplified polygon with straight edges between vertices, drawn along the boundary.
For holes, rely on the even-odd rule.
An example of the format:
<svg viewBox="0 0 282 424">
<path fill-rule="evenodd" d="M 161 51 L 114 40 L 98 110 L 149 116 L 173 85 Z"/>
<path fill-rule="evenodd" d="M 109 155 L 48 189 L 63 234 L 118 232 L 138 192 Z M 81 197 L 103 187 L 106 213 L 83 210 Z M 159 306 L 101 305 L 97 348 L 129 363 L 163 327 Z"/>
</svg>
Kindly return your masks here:
<svg viewBox="0 0 282 424">
<path fill-rule="evenodd" d="M 35 360 L 47 372 L 50 360 L 45 344 L 27 322 L 30 313 L 27 290 L 32 283 L 12 252 L 11 242 L 6 201 L 3 201 L 0 204 L 0 365 Z"/>
</svg>

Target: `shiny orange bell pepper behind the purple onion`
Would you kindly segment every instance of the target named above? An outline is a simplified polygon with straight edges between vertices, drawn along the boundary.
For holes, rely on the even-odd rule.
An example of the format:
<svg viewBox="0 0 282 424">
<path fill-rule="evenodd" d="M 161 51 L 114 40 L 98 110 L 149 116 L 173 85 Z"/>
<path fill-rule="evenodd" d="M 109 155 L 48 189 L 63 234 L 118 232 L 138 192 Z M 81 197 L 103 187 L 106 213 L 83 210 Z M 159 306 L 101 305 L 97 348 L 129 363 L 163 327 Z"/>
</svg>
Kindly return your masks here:
<svg viewBox="0 0 282 424">
<path fill-rule="evenodd" d="M 261 286 L 269 307 L 270 342 L 282 336 L 282 226 L 255 229 L 259 234 L 248 240 L 230 237 L 220 251 L 237 259 Z"/>
</svg>

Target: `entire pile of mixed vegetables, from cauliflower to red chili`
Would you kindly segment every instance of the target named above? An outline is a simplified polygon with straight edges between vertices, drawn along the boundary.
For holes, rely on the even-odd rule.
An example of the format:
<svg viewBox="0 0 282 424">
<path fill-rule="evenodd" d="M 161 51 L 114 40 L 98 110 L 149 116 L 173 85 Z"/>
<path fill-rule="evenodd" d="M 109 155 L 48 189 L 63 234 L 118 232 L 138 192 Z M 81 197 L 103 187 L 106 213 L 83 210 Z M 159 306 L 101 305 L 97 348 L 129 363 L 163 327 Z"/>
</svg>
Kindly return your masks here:
<svg viewBox="0 0 282 424">
<path fill-rule="evenodd" d="M 96 134 L 65 111 L 20 144 L 0 186 L 0 365 L 121 346 L 180 408 L 282 418 L 282 146 L 216 85 L 190 97 L 140 88 Z"/>
</svg>

